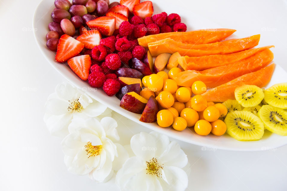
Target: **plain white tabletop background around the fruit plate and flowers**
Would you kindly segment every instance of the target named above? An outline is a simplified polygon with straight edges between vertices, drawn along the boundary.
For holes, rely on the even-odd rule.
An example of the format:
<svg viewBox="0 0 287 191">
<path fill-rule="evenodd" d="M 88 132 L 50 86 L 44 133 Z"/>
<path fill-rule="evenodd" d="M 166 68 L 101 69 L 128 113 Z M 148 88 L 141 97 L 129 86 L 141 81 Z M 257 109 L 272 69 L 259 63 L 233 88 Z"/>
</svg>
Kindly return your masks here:
<svg viewBox="0 0 287 191">
<path fill-rule="evenodd" d="M 117 190 L 113 180 L 96 184 L 87 176 L 70 174 L 63 161 L 61 139 L 45 128 L 45 101 L 65 79 L 35 43 L 32 17 L 39 2 L 0 0 L 0 190 Z M 164 1 L 157 2 L 160 7 L 159 2 Z M 260 33 L 266 45 L 275 45 L 274 60 L 280 60 L 276 63 L 287 70 L 286 2 L 179 0 L 170 6 L 179 13 L 184 5 L 199 19 L 240 30 L 243 36 Z M 122 123 L 129 124 L 128 137 L 149 131 L 119 115 L 115 118 L 120 118 L 122 135 L 126 130 Z M 286 190 L 287 146 L 245 153 L 205 151 L 178 142 L 191 164 L 187 190 Z"/>
</svg>

